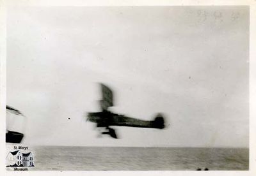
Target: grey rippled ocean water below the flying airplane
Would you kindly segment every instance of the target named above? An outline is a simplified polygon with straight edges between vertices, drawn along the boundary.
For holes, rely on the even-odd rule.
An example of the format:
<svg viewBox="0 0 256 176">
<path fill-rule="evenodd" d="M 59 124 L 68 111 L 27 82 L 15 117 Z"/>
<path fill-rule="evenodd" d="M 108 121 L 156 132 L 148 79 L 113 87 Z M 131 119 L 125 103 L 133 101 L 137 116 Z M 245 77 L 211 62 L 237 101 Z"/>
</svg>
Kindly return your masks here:
<svg viewBox="0 0 256 176">
<path fill-rule="evenodd" d="M 248 170 L 249 149 L 33 147 L 29 170 Z"/>
</svg>

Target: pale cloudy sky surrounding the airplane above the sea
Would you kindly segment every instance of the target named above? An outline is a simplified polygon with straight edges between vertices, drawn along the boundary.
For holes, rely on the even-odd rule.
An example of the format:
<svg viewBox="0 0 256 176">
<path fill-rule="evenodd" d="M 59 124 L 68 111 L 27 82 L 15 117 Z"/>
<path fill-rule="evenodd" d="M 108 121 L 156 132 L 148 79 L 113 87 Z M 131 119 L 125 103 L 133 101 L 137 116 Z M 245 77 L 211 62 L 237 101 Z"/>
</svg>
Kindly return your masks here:
<svg viewBox="0 0 256 176">
<path fill-rule="evenodd" d="M 12 7 L 6 25 L 6 104 L 26 115 L 26 144 L 249 145 L 246 6 Z M 84 114 L 100 110 L 99 82 L 113 112 L 161 112 L 168 128 L 97 137 Z"/>
</svg>

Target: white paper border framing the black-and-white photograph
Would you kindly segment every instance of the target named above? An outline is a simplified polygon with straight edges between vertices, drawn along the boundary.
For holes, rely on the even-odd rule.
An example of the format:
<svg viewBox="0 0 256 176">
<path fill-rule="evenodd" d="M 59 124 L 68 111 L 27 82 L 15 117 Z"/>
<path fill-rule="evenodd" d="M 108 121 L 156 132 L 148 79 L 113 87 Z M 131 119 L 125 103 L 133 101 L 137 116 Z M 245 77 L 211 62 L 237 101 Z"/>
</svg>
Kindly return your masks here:
<svg viewBox="0 0 256 176">
<path fill-rule="evenodd" d="M 250 6 L 250 169 L 248 171 L 31 171 L 31 172 L 8 172 L 5 167 L 5 106 L 6 106 L 6 7 L 8 6 Z M 256 1 L 246 0 L 186 0 L 186 1 L 145 1 L 145 0 L 116 0 L 116 1 L 82 1 L 82 0 L 6 0 L 0 1 L 0 59 L 1 59 L 1 87 L 0 87 L 0 165 L 1 175 L 256 175 Z M 253 118 L 254 117 L 254 118 Z"/>
</svg>

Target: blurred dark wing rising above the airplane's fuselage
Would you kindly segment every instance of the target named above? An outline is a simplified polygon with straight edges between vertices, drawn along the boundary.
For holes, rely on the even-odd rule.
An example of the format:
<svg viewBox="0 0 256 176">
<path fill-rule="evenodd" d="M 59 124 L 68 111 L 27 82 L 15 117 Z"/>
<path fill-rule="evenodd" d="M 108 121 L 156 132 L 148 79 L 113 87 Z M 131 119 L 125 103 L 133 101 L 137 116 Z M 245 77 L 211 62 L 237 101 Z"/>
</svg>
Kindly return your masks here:
<svg viewBox="0 0 256 176">
<path fill-rule="evenodd" d="M 100 106 L 102 110 L 107 110 L 108 107 L 113 106 L 113 92 L 108 86 L 100 84 L 102 91 L 102 99 L 100 100 Z"/>
</svg>

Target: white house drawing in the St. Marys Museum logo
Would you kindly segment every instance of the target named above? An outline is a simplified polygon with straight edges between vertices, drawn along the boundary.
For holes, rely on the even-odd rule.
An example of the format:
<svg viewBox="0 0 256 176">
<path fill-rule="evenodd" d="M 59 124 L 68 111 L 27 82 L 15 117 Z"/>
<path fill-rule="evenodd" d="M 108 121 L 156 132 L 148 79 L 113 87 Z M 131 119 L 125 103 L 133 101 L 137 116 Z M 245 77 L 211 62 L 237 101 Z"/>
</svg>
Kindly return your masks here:
<svg viewBox="0 0 256 176">
<path fill-rule="evenodd" d="M 6 167 L 14 167 L 14 170 L 20 170 L 18 167 L 33 167 L 34 157 L 33 152 L 20 152 L 20 150 L 8 152 Z"/>
</svg>

